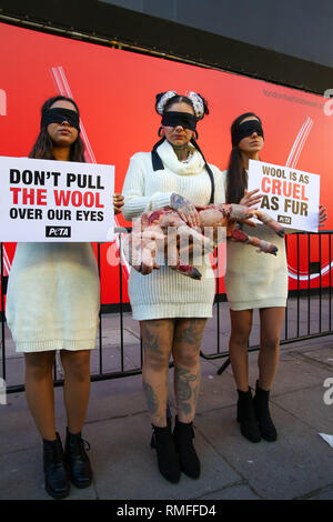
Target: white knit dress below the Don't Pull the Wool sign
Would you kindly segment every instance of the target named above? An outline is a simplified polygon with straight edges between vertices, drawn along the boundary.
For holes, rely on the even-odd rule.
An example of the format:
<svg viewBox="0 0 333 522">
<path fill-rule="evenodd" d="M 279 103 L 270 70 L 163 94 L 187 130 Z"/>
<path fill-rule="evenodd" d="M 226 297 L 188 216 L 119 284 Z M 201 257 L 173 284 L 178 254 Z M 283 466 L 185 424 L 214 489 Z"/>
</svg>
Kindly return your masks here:
<svg viewBox="0 0 333 522">
<path fill-rule="evenodd" d="M 91 243 L 18 243 L 6 305 L 18 352 L 93 349 L 99 308 Z"/>
</svg>

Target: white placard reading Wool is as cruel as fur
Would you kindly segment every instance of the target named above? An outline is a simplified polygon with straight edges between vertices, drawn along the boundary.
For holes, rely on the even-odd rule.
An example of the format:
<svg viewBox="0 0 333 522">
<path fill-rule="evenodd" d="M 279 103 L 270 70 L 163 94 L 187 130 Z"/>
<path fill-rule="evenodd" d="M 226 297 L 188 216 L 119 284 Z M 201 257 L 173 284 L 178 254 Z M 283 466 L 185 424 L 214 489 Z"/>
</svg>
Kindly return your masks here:
<svg viewBox="0 0 333 522">
<path fill-rule="evenodd" d="M 260 209 L 287 229 L 317 232 L 320 175 L 263 161 L 249 161 L 248 190 L 263 194 Z"/>
</svg>

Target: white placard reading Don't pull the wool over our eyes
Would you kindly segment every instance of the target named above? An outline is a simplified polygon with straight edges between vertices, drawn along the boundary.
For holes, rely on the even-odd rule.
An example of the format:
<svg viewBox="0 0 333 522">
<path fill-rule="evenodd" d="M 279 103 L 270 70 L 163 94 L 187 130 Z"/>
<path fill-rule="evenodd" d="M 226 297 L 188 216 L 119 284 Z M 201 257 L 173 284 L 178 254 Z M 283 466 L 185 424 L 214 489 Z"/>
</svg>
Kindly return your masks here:
<svg viewBox="0 0 333 522">
<path fill-rule="evenodd" d="M 0 241 L 113 241 L 113 165 L 0 157 Z"/>
</svg>

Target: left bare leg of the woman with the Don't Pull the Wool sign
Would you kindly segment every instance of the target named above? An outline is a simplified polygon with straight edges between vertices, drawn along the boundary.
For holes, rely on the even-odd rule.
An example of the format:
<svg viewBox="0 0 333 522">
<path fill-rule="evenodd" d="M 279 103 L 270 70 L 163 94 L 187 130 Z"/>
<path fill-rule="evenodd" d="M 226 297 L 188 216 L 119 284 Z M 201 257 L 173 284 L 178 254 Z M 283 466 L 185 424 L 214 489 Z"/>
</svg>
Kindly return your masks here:
<svg viewBox="0 0 333 522">
<path fill-rule="evenodd" d="M 26 396 L 42 439 L 56 440 L 52 367 L 56 352 L 26 353 Z"/>
</svg>

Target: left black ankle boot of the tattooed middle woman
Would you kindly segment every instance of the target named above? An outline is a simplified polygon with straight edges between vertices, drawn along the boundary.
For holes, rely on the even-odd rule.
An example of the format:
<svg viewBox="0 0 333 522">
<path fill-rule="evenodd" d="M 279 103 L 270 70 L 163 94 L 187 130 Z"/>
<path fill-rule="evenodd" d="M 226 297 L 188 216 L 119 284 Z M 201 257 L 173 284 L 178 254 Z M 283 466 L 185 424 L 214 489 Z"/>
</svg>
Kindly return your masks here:
<svg viewBox="0 0 333 522">
<path fill-rule="evenodd" d="M 152 429 L 151 446 L 158 452 L 160 473 L 164 479 L 169 480 L 169 482 L 176 483 L 180 480 L 181 471 L 174 440 L 171 434 L 171 425 L 159 428 L 152 424 Z"/>
</svg>

